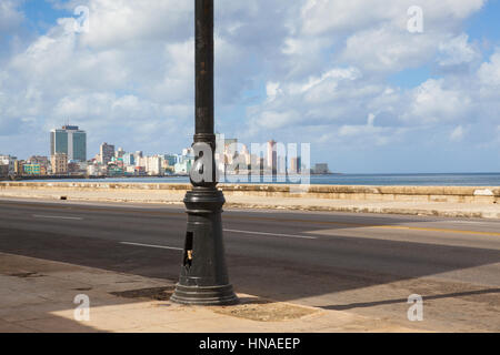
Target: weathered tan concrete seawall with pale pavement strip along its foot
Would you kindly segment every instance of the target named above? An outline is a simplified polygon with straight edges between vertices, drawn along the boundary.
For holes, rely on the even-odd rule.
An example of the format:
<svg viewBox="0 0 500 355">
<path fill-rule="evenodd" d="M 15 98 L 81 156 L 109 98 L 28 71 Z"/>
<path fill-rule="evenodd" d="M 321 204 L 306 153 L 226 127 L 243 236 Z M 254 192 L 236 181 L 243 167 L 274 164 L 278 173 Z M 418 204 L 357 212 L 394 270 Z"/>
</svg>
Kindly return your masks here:
<svg viewBox="0 0 500 355">
<path fill-rule="evenodd" d="M 179 204 L 189 184 L 0 182 L 0 197 Z M 500 219 L 500 186 L 221 184 L 229 206 Z"/>
</svg>

